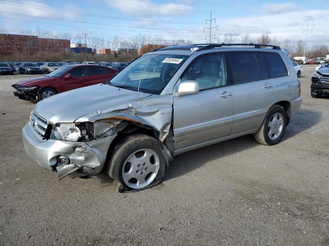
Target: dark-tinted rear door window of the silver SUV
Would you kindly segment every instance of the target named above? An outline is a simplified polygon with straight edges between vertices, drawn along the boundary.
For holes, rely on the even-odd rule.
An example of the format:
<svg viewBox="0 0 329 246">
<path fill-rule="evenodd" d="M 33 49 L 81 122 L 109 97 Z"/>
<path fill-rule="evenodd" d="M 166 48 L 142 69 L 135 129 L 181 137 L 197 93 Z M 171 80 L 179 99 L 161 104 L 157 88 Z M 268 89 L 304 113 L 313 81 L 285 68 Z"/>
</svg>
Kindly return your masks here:
<svg viewBox="0 0 329 246">
<path fill-rule="evenodd" d="M 228 53 L 233 84 L 240 84 L 260 79 L 257 60 L 254 53 Z"/>
</svg>

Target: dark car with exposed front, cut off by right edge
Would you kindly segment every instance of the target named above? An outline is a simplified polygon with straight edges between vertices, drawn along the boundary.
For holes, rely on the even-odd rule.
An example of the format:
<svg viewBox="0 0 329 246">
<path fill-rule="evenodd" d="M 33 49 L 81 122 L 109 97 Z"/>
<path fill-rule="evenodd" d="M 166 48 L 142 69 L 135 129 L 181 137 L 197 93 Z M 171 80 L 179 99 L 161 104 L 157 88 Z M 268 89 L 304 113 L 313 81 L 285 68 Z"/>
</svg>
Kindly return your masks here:
<svg viewBox="0 0 329 246">
<path fill-rule="evenodd" d="M 311 81 L 310 95 L 312 97 L 320 98 L 323 94 L 329 95 L 329 64 L 321 64 Z"/>
</svg>

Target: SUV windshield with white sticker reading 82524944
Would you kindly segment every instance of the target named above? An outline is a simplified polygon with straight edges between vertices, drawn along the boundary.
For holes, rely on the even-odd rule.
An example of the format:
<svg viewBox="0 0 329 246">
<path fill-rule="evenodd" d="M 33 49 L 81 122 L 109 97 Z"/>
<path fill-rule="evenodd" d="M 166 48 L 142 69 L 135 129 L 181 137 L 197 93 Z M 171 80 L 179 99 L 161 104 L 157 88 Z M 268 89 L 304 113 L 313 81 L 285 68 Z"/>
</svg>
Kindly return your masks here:
<svg viewBox="0 0 329 246">
<path fill-rule="evenodd" d="M 124 89 L 160 94 L 187 55 L 143 55 L 123 69 L 108 84 Z"/>
</svg>

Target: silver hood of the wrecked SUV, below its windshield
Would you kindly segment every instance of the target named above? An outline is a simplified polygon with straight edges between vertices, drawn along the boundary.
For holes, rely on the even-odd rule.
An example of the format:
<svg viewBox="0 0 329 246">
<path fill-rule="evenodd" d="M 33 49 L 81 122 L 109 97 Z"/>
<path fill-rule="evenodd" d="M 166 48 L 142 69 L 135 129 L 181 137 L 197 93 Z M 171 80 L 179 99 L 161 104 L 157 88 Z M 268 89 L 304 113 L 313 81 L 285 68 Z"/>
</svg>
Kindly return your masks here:
<svg viewBox="0 0 329 246">
<path fill-rule="evenodd" d="M 74 122 L 83 115 L 150 95 L 98 84 L 46 98 L 34 106 L 34 112 L 52 124 Z"/>
</svg>

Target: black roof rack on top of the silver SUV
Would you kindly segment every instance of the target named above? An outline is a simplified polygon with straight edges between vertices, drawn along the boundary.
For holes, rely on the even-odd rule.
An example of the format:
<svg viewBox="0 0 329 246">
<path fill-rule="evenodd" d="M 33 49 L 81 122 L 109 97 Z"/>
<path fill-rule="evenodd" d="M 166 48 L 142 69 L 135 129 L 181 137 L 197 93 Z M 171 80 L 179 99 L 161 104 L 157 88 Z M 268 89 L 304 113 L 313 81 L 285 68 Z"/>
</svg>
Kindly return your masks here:
<svg viewBox="0 0 329 246">
<path fill-rule="evenodd" d="M 153 50 L 152 52 L 157 51 L 157 50 L 202 51 L 202 50 L 209 50 L 209 49 L 213 49 L 213 48 L 220 48 L 223 46 L 253 46 L 254 48 L 258 48 L 258 49 L 261 49 L 262 47 L 271 47 L 272 49 L 275 49 L 275 50 L 281 50 L 281 48 L 276 45 L 253 44 L 253 43 L 249 43 L 249 44 L 224 44 L 224 43 L 222 43 L 222 44 L 191 44 L 191 45 L 168 46 L 168 47 Z"/>
</svg>

